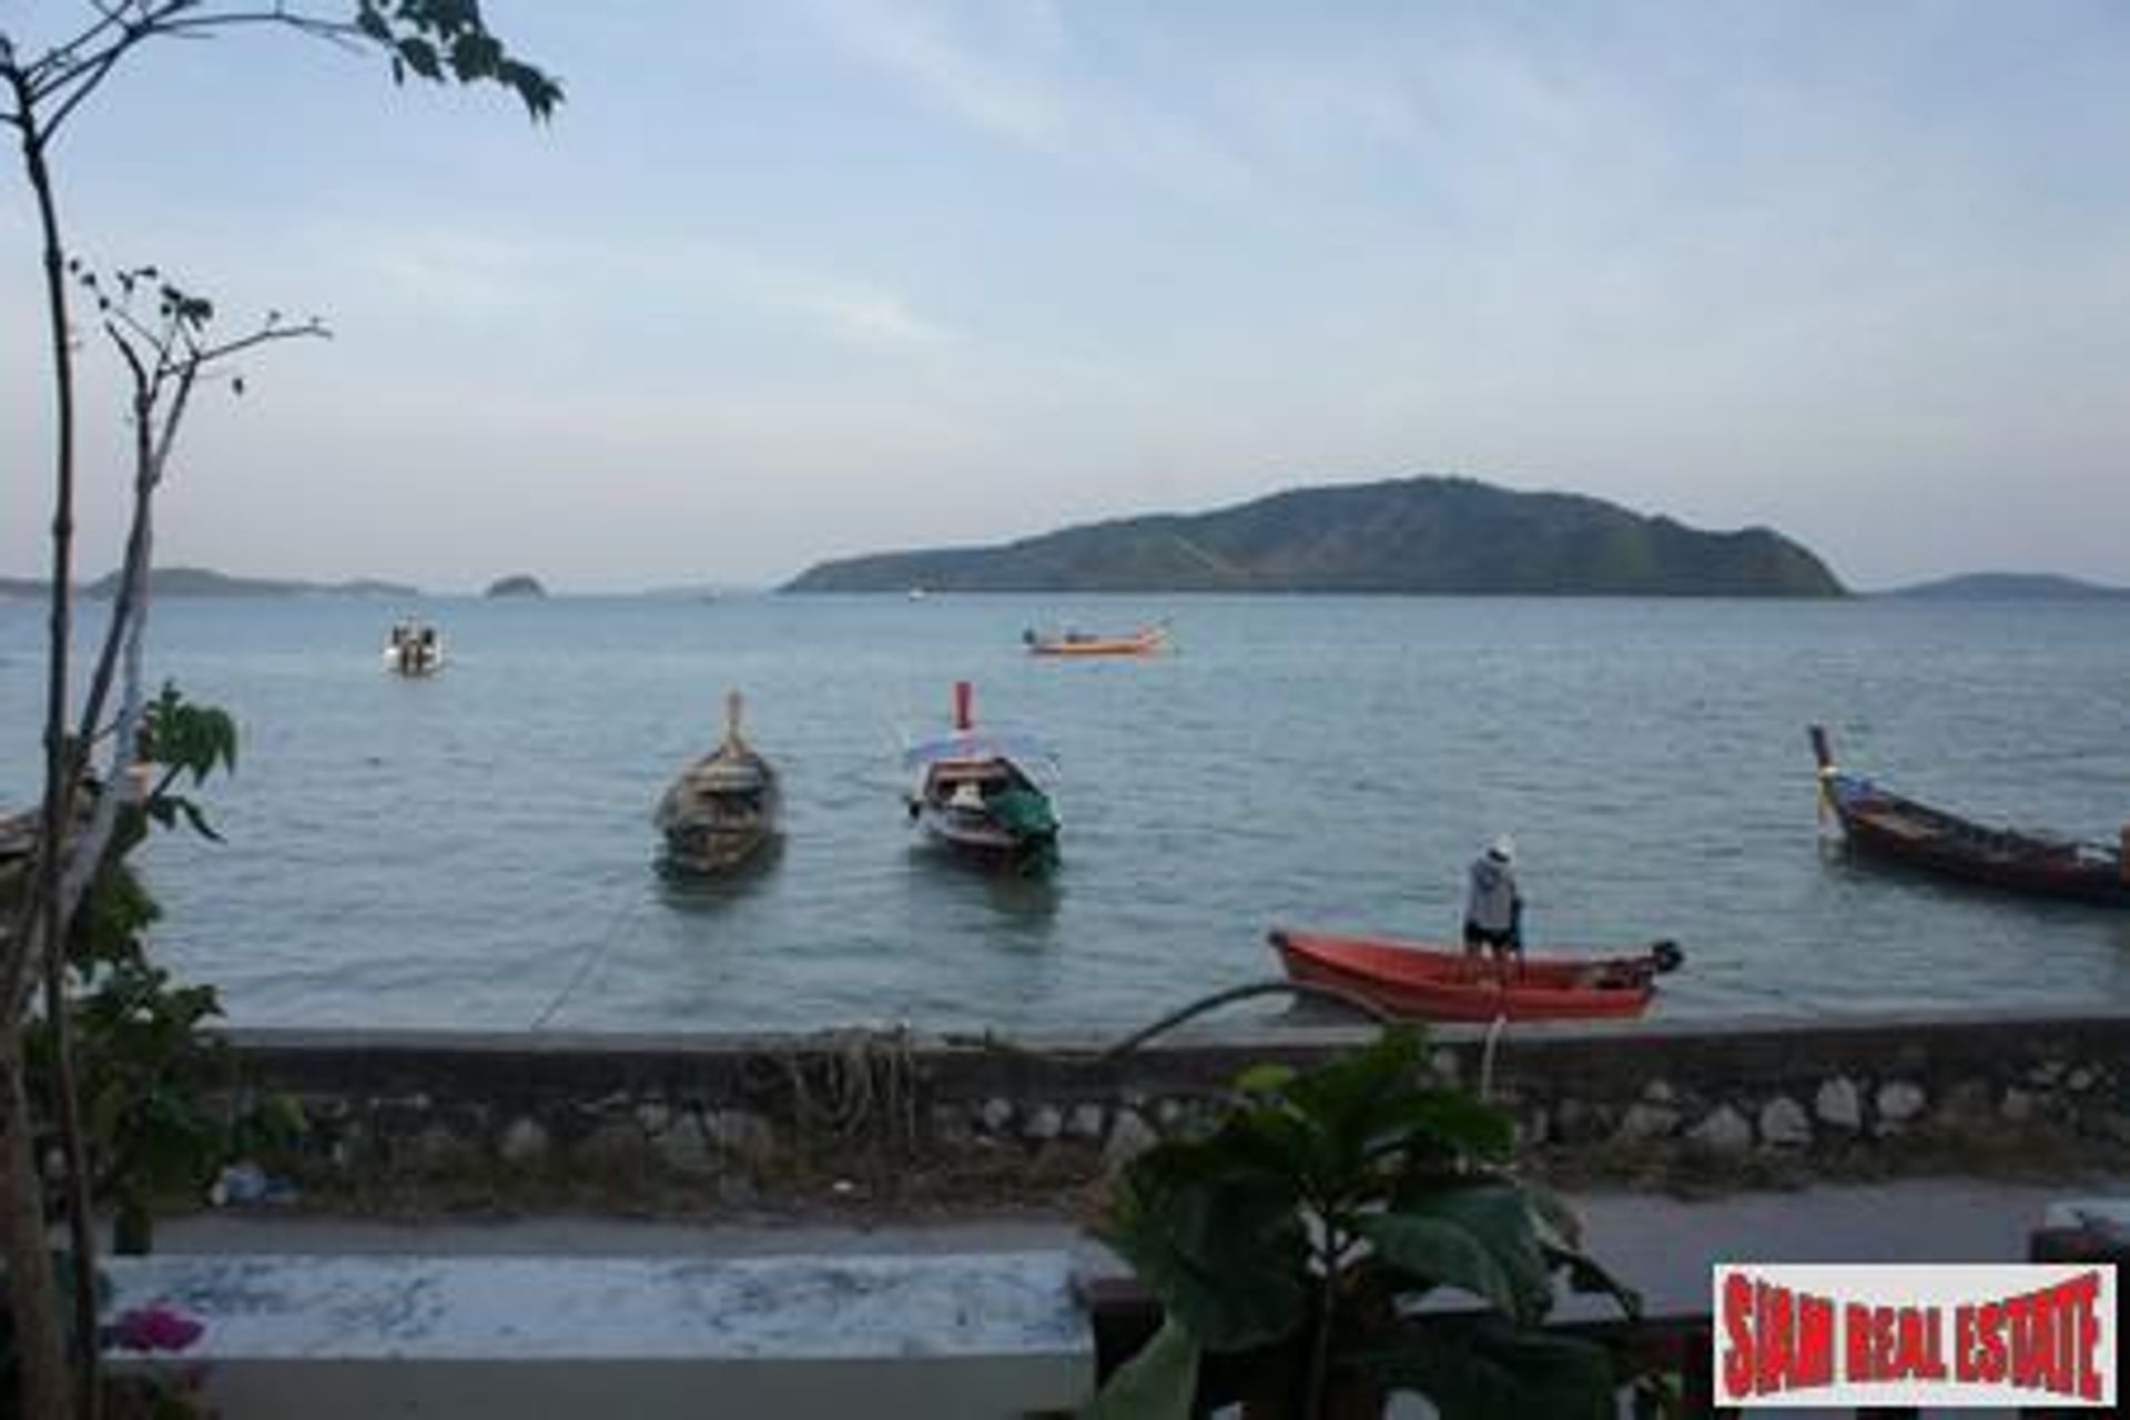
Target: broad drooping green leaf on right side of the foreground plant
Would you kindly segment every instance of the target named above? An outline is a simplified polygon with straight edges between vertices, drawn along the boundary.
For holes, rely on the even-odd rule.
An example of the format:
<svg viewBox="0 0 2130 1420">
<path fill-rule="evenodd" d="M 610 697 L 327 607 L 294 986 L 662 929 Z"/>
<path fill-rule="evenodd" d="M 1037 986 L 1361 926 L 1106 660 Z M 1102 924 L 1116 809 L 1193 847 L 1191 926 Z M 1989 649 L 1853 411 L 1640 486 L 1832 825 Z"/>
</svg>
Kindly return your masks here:
<svg viewBox="0 0 2130 1420">
<path fill-rule="evenodd" d="M 1519 1322 L 1538 1322 L 1553 1305 L 1531 1207 L 1514 1184 L 1438 1188 L 1355 1228 L 1393 1267 L 1482 1297 Z"/>
</svg>

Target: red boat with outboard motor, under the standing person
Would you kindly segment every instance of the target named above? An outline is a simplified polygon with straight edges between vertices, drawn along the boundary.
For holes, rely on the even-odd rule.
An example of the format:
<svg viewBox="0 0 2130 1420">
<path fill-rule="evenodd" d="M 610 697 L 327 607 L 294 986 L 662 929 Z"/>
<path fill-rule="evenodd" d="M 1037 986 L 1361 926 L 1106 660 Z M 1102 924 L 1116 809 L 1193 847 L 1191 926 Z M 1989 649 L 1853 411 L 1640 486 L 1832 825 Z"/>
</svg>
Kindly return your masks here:
<svg viewBox="0 0 2130 1420">
<path fill-rule="evenodd" d="M 1640 956 L 1555 956 L 1495 964 L 1448 945 L 1389 937 L 1272 932 L 1287 975 L 1336 986 L 1416 1020 L 1619 1020 L 1640 1016 L 1655 979 L 1683 960 L 1659 941 Z"/>
</svg>

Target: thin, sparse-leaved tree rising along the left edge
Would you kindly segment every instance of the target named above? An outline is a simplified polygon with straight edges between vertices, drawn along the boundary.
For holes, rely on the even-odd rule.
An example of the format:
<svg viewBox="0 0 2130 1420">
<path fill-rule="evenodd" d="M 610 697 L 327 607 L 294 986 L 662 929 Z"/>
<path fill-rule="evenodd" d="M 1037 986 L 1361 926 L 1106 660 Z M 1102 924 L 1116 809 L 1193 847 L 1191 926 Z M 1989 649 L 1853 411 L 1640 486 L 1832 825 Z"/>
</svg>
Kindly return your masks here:
<svg viewBox="0 0 2130 1420">
<path fill-rule="evenodd" d="M 75 505 L 77 505 L 77 381 L 75 360 L 81 328 L 70 309 L 66 275 L 81 277 L 79 262 L 68 253 L 66 228 L 60 219 L 60 183 L 53 172 L 53 143 L 87 100 L 111 79 L 136 49 L 166 38 L 213 38 L 258 28 L 341 43 L 354 49 L 381 51 L 392 79 L 405 83 L 415 75 L 435 83 L 496 85 L 518 94 L 526 113 L 539 121 L 554 113 L 562 87 L 541 68 L 513 55 L 488 30 L 477 0 L 354 0 L 349 17 L 341 4 L 332 13 L 313 11 L 300 0 L 273 4 L 217 4 L 213 0 L 89 0 L 64 38 L 36 45 L 17 28 L 13 13 L 0 15 L 0 130 L 13 136 L 21 158 L 21 175 L 30 192 L 40 245 L 45 292 L 45 339 L 51 362 L 53 396 L 53 483 L 51 483 L 51 566 L 49 566 L 49 641 L 45 656 L 45 792 L 38 809 L 36 856 L 28 871 L 0 869 L 0 890 L 15 898 L 6 922 L 0 922 L 0 1254 L 6 1258 L 6 1292 L 13 1316 L 13 1354 L 17 1358 L 23 1407 L 38 1416 L 75 1411 L 79 1388 L 81 1414 L 96 1420 L 102 1386 L 98 1352 L 87 1341 L 94 1333 L 94 1307 L 87 1286 L 94 1273 L 96 1237 L 89 1218 L 87 1165 L 83 1160 L 83 1126 L 72 1058 L 72 1011 L 68 1009 L 66 973 L 75 945 L 75 915 L 81 894 L 104 862 L 104 847 L 115 828 L 113 805 L 119 796 L 104 794 L 98 813 L 83 832 L 75 832 L 77 796 L 92 781 L 96 745 L 106 745 L 111 775 L 130 773 L 141 728 L 141 641 L 149 600 L 147 573 L 153 556 L 151 505 L 170 460 L 173 443 L 196 379 L 217 360 L 275 341 L 290 330 L 266 328 L 224 343 L 204 345 L 202 330 L 213 307 L 190 292 L 158 285 L 158 315 L 130 317 L 124 298 L 138 283 L 160 283 L 151 268 L 136 268 L 119 281 L 119 302 L 94 290 L 102 330 L 132 377 L 130 426 L 134 445 L 132 517 L 126 534 L 126 556 L 117 596 L 102 632 L 102 651 L 89 675 L 87 692 L 75 709 L 72 666 L 72 583 L 75 583 Z M 337 17 L 339 15 L 339 17 Z M 183 143 L 179 128 L 164 126 L 158 141 Z M 232 392 L 243 392 L 232 377 Z M 121 671 L 124 666 L 124 671 Z M 117 713 L 104 720 L 113 686 Z M 173 800 L 170 813 L 194 818 Z M 45 1254 L 45 1218 L 40 1213 L 38 1160 L 30 1139 L 30 1096 L 26 1088 L 26 1022 L 30 998 L 43 988 L 45 1022 L 53 1033 L 53 1113 L 64 1158 L 66 1216 L 75 1271 L 72 1356 L 68 1326 L 58 1307 L 62 1290 Z"/>
</svg>

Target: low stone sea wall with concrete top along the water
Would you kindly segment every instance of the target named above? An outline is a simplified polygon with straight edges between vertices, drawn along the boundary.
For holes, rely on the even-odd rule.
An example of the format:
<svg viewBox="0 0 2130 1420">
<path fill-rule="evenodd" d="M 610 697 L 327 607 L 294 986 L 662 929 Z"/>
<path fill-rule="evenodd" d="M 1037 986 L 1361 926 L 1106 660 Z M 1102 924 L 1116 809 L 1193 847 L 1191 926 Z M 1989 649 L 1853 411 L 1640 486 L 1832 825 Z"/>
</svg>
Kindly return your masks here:
<svg viewBox="0 0 2130 1420">
<path fill-rule="evenodd" d="M 1216 1107 L 1244 1064 L 1306 1064 L 1361 1039 L 1252 1028 L 1114 1058 L 1088 1041 L 901 1033 L 230 1033 L 239 1103 L 302 1107 L 298 1147 L 268 1169 L 313 1192 L 654 1209 L 1054 1203 Z M 2130 1016 L 1433 1039 L 1440 1073 L 1485 1086 L 1540 1167 L 1578 1177 L 2098 1169 L 2130 1143 Z"/>
</svg>

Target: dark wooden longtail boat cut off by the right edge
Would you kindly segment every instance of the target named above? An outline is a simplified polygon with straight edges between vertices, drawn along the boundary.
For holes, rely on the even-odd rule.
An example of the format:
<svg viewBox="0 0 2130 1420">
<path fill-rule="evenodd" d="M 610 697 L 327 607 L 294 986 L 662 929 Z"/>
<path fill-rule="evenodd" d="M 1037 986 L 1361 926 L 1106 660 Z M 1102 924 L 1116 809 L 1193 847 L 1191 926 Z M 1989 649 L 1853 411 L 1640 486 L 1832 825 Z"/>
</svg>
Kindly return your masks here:
<svg viewBox="0 0 2130 1420">
<path fill-rule="evenodd" d="M 1821 803 L 1851 849 L 2009 892 L 2130 907 L 2130 824 L 2117 847 L 1992 828 L 1838 769 L 1825 728 L 1815 724 L 1808 734 Z"/>
</svg>

